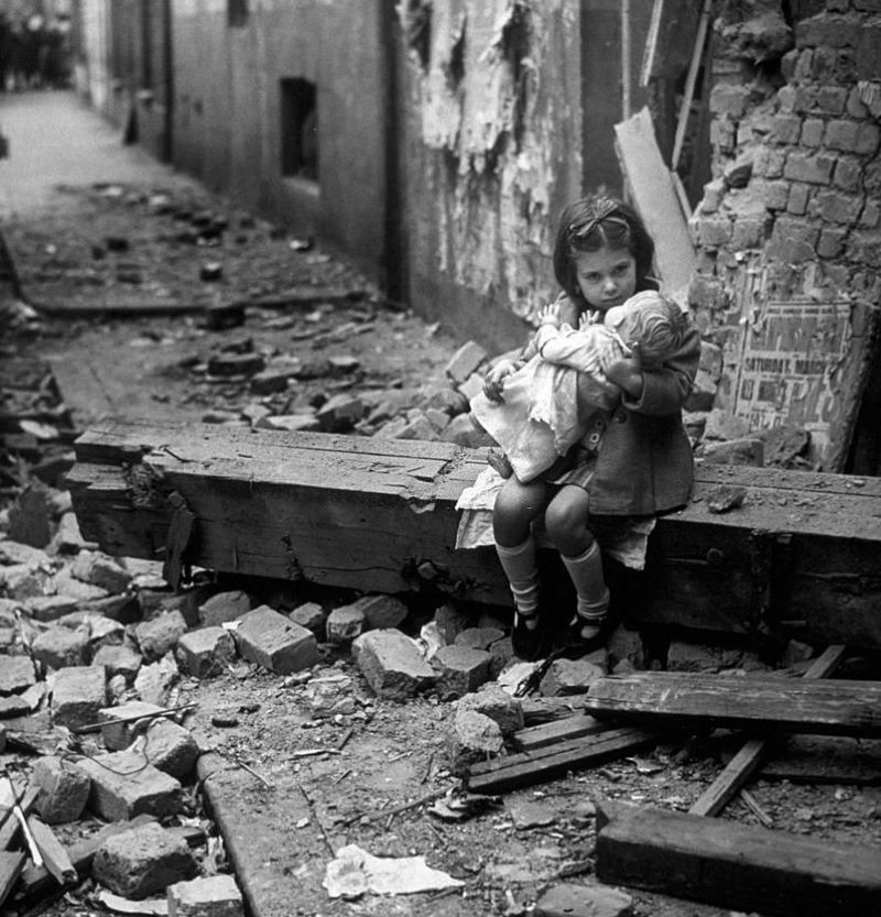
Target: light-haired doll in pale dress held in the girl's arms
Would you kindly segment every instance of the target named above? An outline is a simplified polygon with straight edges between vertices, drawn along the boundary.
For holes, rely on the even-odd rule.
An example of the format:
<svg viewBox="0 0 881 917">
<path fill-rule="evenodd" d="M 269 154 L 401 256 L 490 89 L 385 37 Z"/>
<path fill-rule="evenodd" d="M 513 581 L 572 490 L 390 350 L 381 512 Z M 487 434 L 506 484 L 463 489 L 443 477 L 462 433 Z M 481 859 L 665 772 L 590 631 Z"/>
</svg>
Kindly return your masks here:
<svg viewBox="0 0 881 917">
<path fill-rule="evenodd" d="M 583 313 L 577 329 L 561 325 L 559 310 L 556 302 L 542 312 L 533 338 L 537 353 L 504 379 L 500 400 L 482 392 L 471 400 L 472 416 L 504 450 L 490 454 L 490 463 L 503 478 L 514 473 L 522 483 L 547 471 L 584 435 L 577 373 L 588 375 L 581 381 L 583 402 L 611 411 L 619 393 L 602 372 L 600 354 L 630 357 L 639 348 L 643 369 L 656 369 L 679 347 L 686 328 L 676 303 L 653 290 L 610 308 L 601 321 L 598 313 Z"/>
</svg>

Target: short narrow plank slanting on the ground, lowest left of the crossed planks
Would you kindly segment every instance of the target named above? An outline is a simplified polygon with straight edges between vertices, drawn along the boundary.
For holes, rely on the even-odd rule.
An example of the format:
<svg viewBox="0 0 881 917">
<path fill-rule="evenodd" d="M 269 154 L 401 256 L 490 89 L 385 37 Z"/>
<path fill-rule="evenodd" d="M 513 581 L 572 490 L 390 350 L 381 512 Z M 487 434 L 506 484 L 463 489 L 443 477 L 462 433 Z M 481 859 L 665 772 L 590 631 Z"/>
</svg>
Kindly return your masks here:
<svg viewBox="0 0 881 917">
<path fill-rule="evenodd" d="M 472 793 L 507 793 L 553 780 L 579 771 L 645 751 L 657 736 L 640 729 L 610 729 L 596 735 L 572 739 L 535 752 L 508 755 L 474 765 L 468 774 Z"/>
</svg>

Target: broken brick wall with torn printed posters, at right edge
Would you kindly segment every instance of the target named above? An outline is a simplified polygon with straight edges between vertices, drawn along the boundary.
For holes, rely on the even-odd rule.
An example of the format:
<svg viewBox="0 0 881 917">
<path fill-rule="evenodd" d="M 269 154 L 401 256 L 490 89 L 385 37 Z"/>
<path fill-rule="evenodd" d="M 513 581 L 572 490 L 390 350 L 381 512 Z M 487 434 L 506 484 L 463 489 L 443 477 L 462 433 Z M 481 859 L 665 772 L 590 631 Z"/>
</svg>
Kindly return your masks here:
<svg viewBox="0 0 881 917">
<path fill-rule="evenodd" d="M 726 0 L 713 44 L 714 181 L 689 299 L 722 347 L 715 406 L 811 433 L 844 470 L 881 281 L 881 3 Z"/>
</svg>

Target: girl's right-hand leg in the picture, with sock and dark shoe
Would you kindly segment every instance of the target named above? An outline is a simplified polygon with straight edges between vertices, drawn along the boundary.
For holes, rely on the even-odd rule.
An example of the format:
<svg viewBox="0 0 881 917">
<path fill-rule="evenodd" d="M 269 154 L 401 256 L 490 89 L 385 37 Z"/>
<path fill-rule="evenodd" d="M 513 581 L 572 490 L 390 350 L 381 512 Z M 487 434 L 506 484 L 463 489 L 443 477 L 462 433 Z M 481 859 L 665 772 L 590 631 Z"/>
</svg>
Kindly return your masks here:
<svg viewBox="0 0 881 917">
<path fill-rule="evenodd" d="M 587 491 L 564 487 L 547 507 L 545 527 L 575 585 L 578 635 L 591 641 L 602 633 L 610 597 L 599 545 L 587 527 Z"/>
</svg>

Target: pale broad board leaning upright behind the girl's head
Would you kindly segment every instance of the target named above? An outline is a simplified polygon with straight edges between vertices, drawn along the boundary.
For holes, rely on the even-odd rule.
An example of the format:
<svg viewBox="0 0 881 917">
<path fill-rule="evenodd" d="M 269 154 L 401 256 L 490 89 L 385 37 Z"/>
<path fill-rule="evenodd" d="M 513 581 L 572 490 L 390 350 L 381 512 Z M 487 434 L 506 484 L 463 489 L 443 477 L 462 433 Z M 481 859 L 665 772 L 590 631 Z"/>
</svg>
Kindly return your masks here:
<svg viewBox="0 0 881 917">
<path fill-rule="evenodd" d="M 657 149 L 649 109 L 616 124 L 614 135 L 621 172 L 655 240 L 661 280 L 673 293 L 686 291 L 695 270 L 695 248 L 670 170 Z"/>
</svg>

